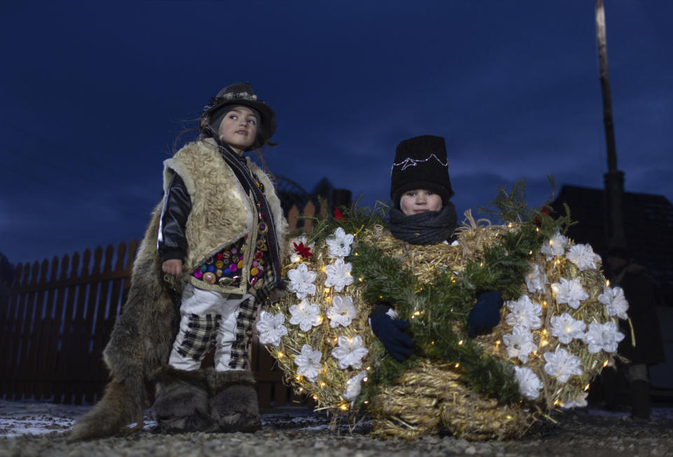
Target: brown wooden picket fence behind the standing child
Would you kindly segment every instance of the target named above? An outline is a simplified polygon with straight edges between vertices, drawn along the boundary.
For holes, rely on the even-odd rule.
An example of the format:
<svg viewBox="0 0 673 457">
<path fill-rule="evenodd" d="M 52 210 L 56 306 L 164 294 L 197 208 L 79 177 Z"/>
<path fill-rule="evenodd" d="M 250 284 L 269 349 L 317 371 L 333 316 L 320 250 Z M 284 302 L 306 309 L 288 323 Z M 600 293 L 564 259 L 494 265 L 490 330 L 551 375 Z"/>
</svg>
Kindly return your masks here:
<svg viewBox="0 0 673 457">
<path fill-rule="evenodd" d="M 315 214 L 315 205 L 290 209 L 293 230 L 300 213 Z M 313 230 L 311 222 L 303 219 L 304 231 Z M 67 404 L 100 397 L 108 381 L 102 350 L 122 311 L 136 248 L 132 240 L 116 249 L 97 247 L 93 255 L 86 250 L 18 264 L 14 284 L 0 296 L 0 397 Z M 304 402 L 283 385 L 282 371 L 257 336 L 251 352 L 260 407 Z"/>
</svg>

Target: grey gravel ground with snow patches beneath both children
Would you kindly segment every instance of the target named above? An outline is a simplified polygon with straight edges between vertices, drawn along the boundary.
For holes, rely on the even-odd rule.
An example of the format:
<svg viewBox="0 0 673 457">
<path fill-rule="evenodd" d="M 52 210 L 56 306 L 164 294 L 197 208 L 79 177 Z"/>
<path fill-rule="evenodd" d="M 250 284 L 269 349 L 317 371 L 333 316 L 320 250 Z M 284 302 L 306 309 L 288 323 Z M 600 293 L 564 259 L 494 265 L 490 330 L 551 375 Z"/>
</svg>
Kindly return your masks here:
<svg viewBox="0 0 673 457">
<path fill-rule="evenodd" d="M 557 423 L 538 422 L 522 439 L 504 442 L 382 441 L 369 436 L 367 421 L 355 430 L 329 430 L 326 416 L 295 408 L 263 414 L 263 428 L 254 434 L 161 435 L 149 421 L 128 437 L 68 443 L 67 430 L 86 407 L 28 405 L 22 410 L 0 401 L 0 456 L 673 456 L 671 409 L 655 409 L 652 421 L 586 409 L 565 412 L 554 416 Z"/>
</svg>

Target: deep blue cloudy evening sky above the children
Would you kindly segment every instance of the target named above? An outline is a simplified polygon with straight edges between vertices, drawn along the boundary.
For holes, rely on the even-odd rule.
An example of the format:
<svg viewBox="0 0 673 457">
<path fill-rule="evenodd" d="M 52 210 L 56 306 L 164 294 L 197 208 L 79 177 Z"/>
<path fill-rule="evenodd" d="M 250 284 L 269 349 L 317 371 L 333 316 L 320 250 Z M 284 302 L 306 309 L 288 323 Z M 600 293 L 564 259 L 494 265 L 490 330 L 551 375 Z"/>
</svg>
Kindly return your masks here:
<svg viewBox="0 0 673 457">
<path fill-rule="evenodd" d="M 458 213 L 525 178 L 601 187 L 594 1 L 4 2 L 0 252 L 142 237 L 162 162 L 210 97 L 276 110 L 277 175 L 388 200 L 395 146 L 447 140 Z M 618 168 L 673 200 L 673 1 L 606 0 Z M 187 132 L 182 142 L 193 137 Z M 461 218 L 462 219 L 462 218 Z"/>
</svg>

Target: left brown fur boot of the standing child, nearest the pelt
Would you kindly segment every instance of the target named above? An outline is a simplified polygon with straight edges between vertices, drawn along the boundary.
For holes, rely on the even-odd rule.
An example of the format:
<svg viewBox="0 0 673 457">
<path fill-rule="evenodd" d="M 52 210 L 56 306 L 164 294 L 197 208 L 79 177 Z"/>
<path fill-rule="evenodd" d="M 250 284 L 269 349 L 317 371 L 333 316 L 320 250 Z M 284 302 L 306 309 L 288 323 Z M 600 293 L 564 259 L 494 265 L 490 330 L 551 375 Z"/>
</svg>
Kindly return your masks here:
<svg viewBox="0 0 673 457">
<path fill-rule="evenodd" d="M 208 414 L 208 383 L 203 370 L 184 371 L 165 365 L 154 374 L 152 413 L 163 432 L 213 432 Z"/>
</svg>

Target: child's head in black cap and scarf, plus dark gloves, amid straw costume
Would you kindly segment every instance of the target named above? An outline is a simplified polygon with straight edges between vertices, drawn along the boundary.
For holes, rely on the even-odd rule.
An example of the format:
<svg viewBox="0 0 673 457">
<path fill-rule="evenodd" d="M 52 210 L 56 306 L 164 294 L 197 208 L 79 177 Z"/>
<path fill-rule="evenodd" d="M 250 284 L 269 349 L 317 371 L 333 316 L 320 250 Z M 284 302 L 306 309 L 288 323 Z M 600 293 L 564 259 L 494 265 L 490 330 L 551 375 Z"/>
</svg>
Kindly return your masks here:
<svg viewBox="0 0 673 457">
<path fill-rule="evenodd" d="M 397 145 L 390 172 L 390 208 L 388 229 L 399 240 L 411 245 L 449 243 L 457 227 L 456 207 L 449 179 L 449 163 L 444 138 L 423 135 L 405 139 Z M 503 296 L 485 291 L 478 297 L 468 316 L 468 335 L 489 332 L 500 322 Z M 398 320 L 390 303 L 379 303 L 369 315 L 372 332 L 386 351 L 397 360 L 412 355 L 414 340 L 405 329 L 406 320 Z"/>
</svg>

